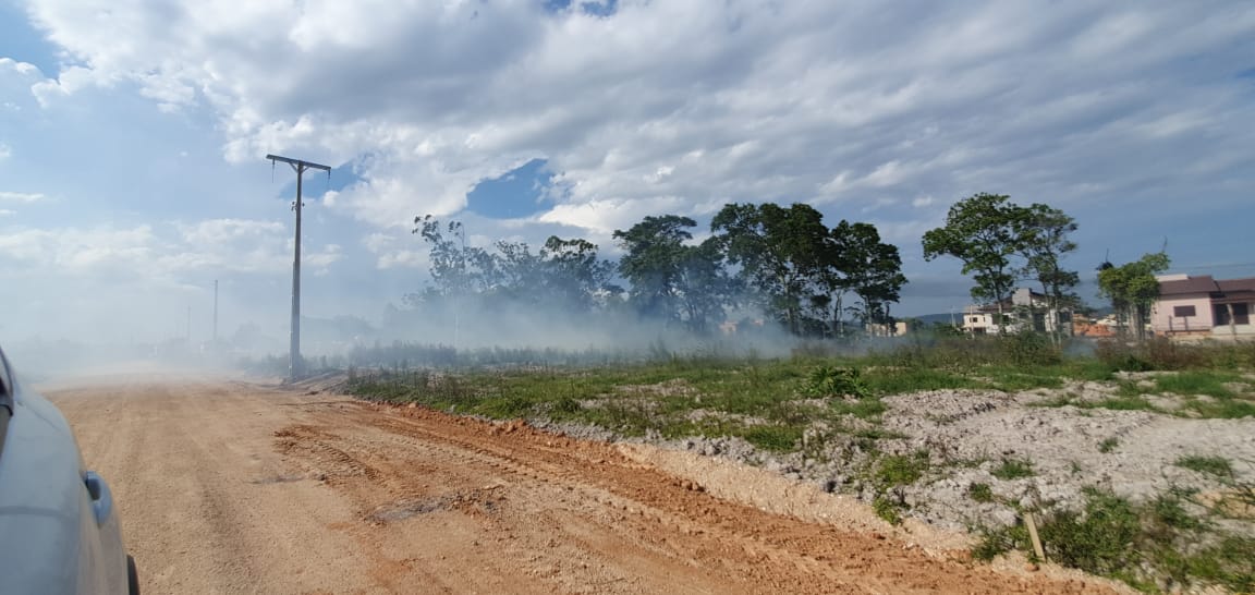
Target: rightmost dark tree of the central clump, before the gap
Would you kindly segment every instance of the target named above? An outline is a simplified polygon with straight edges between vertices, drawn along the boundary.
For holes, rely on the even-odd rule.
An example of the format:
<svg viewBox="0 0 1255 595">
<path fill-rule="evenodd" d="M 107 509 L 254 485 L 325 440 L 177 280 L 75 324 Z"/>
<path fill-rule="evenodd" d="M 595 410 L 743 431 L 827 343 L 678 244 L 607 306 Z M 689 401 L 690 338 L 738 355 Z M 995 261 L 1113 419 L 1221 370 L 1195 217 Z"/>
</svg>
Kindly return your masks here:
<svg viewBox="0 0 1255 595">
<path fill-rule="evenodd" d="M 889 304 L 900 299 L 906 284 L 897 246 L 882 242 L 876 226 L 845 220 L 832 228 L 831 239 L 838 269 L 831 277 L 837 291 L 836 310 L 841 309 L 840 292 L 850 290 L 862 303 L 858 318 L 863 328 L 889 324 Z"/>
</svg>

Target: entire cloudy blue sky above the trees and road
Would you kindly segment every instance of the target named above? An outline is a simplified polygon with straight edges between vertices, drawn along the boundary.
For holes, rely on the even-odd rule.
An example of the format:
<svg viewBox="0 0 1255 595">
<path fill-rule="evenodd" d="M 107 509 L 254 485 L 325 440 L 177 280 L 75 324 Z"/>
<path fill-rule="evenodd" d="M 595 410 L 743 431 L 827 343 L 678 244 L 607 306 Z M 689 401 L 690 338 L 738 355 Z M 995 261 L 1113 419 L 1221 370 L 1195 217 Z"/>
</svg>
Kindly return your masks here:
<svg viewBox="0 0 1255 595">
<path fill-rule="evenodd" d="M 1072 215 L 1087 279 L 1167 246 L 1255 275 L 1255 4 L 0 0 L 0 338 L 286 335 L 420 289 L 415 216 L 611 240 L 806 202 L 920 236 L 978 192 Z M 1086 295 L 1092 296 L 1092 286 Z"/>
</svg>

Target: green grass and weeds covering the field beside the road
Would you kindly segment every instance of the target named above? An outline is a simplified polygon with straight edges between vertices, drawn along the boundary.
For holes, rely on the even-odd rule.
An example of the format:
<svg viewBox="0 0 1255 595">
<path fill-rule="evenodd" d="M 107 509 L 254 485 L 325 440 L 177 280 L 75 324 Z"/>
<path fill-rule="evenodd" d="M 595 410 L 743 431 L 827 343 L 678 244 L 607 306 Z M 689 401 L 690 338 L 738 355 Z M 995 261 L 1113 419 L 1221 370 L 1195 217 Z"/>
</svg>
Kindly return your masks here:
<svg viewBox="0 0 1255 595">
<path fill-rule="evenodd" d="M 927 452 L 877 454 L 882 441 L 902 438 L 881 426 L 889 395 L 937 389 L 1060 390 L 1074 380 L 1104 383 L 1114 390 L 1099 399 L 1064 394 L 1039 404 L 1072 405 L 1082 414 L 1102 408 L 1195 418 L 1255 415 L 1255 380 L 1242 375 L 1255 369 L 1255 344 L 1130 346 L 1112 341 L 1099 344 L 1092 356 L 1071 356 L 1048 341 L 1024 336 L 919 340 L 858 356 L 830 351 L 809 348 L 789 358 L 727 359 L 678 356 L 659 349 L 653 360 L 644 362 L 594 351 L 579 356 L 535 350 L 463 354 L 402 345 L 388 353 L 413 355 L 409 362 L 429 358 L 439 369 L 389 364 L 387 370 L 353 375 L 350 390 L 373 400 L 497 419 L 587 423 L 621 436 L 740 437 L 769 453 L 806 451 L 811 456 L 841 434 L 870 453 L 863 478 L 876 493 L 873 510 L 891 523 L 900 523 L 909 512 L 902 487 L 920 482 L 931 468 Z M 472 365 L 452 368 L 452 363 L 468 362 Z M 1167 373 L 1117 379 L 1121 370 Z M 1160 404 L 1163 395 L 1178 402 Z M 816 441 L 803 446 L 808 431 L 821 437 L 821 446 Z M 1107 438 L 1097 448 L 1114 452 L 1119 441 Z M 1187 456 L 1176 464 L 1216 478 L 1226 496 L 1201 502 L 1196 495 L 1170 491 L 1132 503 L 1111 492 L 1087 492 L 1081 510 L 1042 511 L 1048 557 L 1143 590 L 1191 584 L 1255 589 L 1255 540 L 1226 533 L 1224 523 L 1210 522 L 1212 516 L 1229 523 L 1241 520 L 1240 510 L 1247 508 L 1240 506 L 1255 506 L 1255 488 L 1239 483 L 1235 463 L 1224 457 Z M 1084 473 L 1076 462 L 1071 469 Z M 1033 477 L 1035 471 L 1025 458 L 1003 458 L 991 473 L 1009 481 Z M 968 498 L 999 502 L 986 483 L 970 485 Z M 1030 551 L 1023 525 L 985 530 L 974 555 L 988 559 L 1009 549 Z"/>
</svg>

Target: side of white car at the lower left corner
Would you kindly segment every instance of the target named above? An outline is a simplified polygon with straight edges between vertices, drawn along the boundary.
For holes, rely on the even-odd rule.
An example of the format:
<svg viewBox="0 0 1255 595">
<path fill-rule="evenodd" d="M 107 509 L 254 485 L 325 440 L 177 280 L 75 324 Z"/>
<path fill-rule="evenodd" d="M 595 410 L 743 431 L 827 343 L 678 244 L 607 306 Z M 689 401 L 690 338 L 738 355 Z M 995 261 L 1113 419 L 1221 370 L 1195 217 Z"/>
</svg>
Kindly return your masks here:
<svg viewBox="0 0 1255 595">
<path fill-rule="evenodd" d="M 0 351 L 0 591 L 138 594 L 109 486 Z"/>
</svg>

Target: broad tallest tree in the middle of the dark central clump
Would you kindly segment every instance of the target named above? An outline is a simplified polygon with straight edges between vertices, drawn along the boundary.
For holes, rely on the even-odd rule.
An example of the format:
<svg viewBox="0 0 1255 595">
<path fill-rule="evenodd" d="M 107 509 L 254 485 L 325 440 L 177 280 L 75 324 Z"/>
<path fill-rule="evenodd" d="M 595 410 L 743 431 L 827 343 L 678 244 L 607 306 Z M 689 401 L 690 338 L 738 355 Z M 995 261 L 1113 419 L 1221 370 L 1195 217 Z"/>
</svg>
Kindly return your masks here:
<svg viewBox="0 0 1255 595">
<path fill-rule="evenodd" d="M 763 309 L 793 334 L 811 298 L 827 292 L 826 271 L 835 260 L 823 215 L 809 205 L 725 205 L 710 230 L 728 261 L 756 292 Z"/>
</svg>

